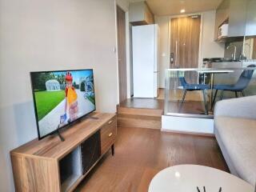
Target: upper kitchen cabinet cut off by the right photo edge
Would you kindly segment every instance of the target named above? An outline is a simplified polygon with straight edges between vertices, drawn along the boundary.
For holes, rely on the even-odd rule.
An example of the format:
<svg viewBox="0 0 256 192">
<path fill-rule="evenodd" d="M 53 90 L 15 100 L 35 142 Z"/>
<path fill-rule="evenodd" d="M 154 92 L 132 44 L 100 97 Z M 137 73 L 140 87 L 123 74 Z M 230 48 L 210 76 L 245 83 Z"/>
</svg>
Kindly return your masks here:
<svg viewBox="0 0 256 192">
<path fill-rule="evenodd" d="M 247 6 L 246 36 L 256 36 L 256 0 L 249 0 Z"/>
</svg>

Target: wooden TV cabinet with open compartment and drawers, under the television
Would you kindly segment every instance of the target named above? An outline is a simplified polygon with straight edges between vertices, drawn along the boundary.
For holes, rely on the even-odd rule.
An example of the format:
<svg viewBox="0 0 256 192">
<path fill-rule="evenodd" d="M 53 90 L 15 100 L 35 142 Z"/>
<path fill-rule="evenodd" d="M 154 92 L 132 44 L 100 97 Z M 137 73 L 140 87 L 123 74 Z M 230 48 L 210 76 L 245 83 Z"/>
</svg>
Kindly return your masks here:
<svg viewBox="0 0 256 192">
<path fill-rule="evenodd" d="M 63 130 L 61 134 L 65 138 L 64 142 L 61 142 L 58 135 L 54 135 L 40 141 L 34 139 L 10 151 L 15 190 L 73 191 L 108 150 L 111 149 L 114 155 L 117 136 L 116 114 L 95 112 L 90 116 L 98 119 L 85 118 Z M 99 145 L 95 141 L 100 141 Z M 91 147 L 88 143 L 96 144 Z M 86 157 L 86 153 L 90 154 L 90 150 L 95 149 L 99 150 L 91 153 L 94 155 L 94 163 L 85 169 L 83 166 L 88 163 L 84 162 L 91 161 L 91 158 Z M 86 172 L 83 173 L 82 170 Z"/>
</svg>

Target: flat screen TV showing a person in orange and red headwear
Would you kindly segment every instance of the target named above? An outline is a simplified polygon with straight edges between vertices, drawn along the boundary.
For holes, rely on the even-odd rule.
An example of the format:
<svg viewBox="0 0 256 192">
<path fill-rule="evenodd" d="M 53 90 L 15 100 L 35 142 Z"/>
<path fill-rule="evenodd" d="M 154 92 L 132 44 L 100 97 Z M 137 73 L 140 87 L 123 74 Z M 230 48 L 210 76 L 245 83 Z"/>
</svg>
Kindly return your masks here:
<svg viewBox="0 0 256 192">
<path fill-rule="evenodd" d="M 30 72 L 38 139 L 96 110 L 93 70 Z"/>
</svg>

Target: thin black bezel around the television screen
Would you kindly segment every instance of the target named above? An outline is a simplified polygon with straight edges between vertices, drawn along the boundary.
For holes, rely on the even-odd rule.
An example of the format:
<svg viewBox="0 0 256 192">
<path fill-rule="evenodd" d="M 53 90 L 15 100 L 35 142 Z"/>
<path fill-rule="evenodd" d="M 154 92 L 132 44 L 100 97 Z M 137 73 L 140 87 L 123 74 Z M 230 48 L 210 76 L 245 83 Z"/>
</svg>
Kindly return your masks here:
<svg viewBox="0 0 256 192">
<path fill-rule="evenodd" d="M 85 70 L 91 70 L 92 74 L 93 74 L 93 83 L 94 83 L 94 70 L 93 69 L 85 69 Z M 46 70 L 46 71 L 31 71 L 30 72 L 30 84 L 31 84 L 31 90 L 32 90 L 32 95 L 33 95 L 33 102 L 34 102 L 34 115 L 35 115 L 35 120 L 36 120 L 36 124 L 37 124 L 37 130 L 38 130 L 38 140 L 41 140 L 42 138 L 46 138 L 52 134 L 55 134 L 58 132 L 58 130 L 62 130 L 68 126 L 74 125 L 75 123 L 77 123 L 79 120 L 81 120 L 82 118 L 85 118 L 87 115 L 93 113 L 96 110 L 96 95 L 95 95 L 95 86 L 94 86 L 94 110 L 90 111 L 87 114 L 82 115 L 80 118 L 75 119 L 73 122 L 69 122 L 68 124 L 66 124 L 65 126 L 62 126 L 52 132 L 50 132 L 49 134 L 46 134 L 44 136 L 41 137 L 40 135 L 40 130 L 39 130 L 39 124 L 38 124 L 38 110 L 37 110 L 37 105 L 35 102 L 35 96 L 34 96 L 34 87 L 33 87 L 33 83 L 32 83 L 32 74 L 38 74 L 38 73 L 51 73 L 51 72 L 72 72 L 72 71 L 79 71 L 79 70 Z"/>
</svg>

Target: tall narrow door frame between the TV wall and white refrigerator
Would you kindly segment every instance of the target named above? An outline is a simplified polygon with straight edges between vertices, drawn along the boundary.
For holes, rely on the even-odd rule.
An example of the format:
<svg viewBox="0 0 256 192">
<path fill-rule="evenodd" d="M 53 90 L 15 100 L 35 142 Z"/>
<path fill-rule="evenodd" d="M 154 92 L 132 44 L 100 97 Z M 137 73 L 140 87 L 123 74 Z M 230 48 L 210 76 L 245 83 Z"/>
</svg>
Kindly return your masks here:
<svg viewBox="0 0 256 192">
<path fill-rule="evenodd" d="M 131 86 L 130 75 L 131 75 L 131 58 L 130 58 L 130 22 L 129 22 L 129 5 L 123 5 L 119 1 L 114 1 L 114 13 L 115 13 L 115 33 L 116 33 L 116 45 L 114 52 L 116 54 L 116 66 L 117 66 L 117 82 L 118 82 L 118 103 L 119 99 L 119 74 L 118 74 L 118 18 L 117 18 L 117 7 L 121 8 L 126 13 L 126 82 L 127 82 L 127 98 L 131 98 Z"/>
</svg>

